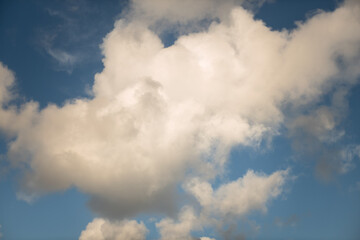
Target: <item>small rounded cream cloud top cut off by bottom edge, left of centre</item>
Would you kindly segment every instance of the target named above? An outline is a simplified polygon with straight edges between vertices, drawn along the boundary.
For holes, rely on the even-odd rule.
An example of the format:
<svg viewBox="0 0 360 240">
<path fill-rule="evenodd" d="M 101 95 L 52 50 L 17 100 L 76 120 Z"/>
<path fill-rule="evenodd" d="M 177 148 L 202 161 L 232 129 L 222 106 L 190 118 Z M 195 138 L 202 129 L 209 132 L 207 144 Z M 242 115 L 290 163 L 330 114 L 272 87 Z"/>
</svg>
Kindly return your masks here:
<svg viewBox="0 0 360 240">
<path fill-rule="evenodd" d="M 145 240 L 147 228 L 136 221 L 110 222 L 95 218 L 81 232 L 79 240 Z"/>
</svg>

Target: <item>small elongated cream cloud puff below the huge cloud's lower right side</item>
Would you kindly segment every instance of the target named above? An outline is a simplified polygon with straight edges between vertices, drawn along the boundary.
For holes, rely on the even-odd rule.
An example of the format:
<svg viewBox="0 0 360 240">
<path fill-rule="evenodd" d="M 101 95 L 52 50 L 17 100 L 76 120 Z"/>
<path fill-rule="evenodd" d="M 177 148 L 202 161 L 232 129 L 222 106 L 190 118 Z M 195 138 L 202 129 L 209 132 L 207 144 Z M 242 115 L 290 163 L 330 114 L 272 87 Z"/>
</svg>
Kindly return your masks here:
<svg viewBox="0 0 360 240">
<path fill-rule="evenodd" d="M 266 211 L 270 199 L 282 193 L 288 170 L 267 176 L 249 170 L 242 178 L 225 183 L 214 191 L 199 179 L 189 181 L 185 189 L 199 201 L 204 211 L 222 218 L 244 216 L 251 211 Z"/>
</svg>

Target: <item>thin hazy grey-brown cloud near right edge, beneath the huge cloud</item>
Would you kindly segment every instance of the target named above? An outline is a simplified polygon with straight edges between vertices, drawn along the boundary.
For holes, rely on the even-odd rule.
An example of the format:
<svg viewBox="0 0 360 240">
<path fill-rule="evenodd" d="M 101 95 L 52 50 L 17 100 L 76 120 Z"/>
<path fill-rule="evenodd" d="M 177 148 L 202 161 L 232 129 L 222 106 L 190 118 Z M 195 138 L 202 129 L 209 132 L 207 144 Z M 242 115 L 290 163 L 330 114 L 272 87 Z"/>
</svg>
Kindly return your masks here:
<svg viewBox="0 0 360 240">
<path fill-rule="evenodd" d="M 317 107 L 287 124 L 293 148 L 300 158 L 315 161 L 316 174 L 325 181 L 351 170 L 358 156 L 358 146 L 339 143 L 345 135 L 340 126 L 347 114 L 347 92 L 339 88 L 330 106 Z"/>
</svg>

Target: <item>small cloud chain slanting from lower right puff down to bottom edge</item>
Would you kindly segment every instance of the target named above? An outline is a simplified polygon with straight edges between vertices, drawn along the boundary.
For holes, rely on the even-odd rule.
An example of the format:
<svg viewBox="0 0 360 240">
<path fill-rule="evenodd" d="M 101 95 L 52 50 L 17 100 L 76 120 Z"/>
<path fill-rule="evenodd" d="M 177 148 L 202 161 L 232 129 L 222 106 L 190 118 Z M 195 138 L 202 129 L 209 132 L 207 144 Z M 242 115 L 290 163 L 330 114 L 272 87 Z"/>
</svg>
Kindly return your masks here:
<svg viewBox="0 0 360 240">
<path fill-rule="evenodd" d="M 265 212 L 268 202 L 283 192 L 288 172 L 277 171 L 268 176 L 249 170 L 242 178 L 225 183 L 216 190 L 208 182 L 189 180 L 184 189 L 200 203 L 200 213 L 186 206 L 177 221 L 162 219 L 156 224 L 161 239 L 192 240 L 193 231 L 209 226 L 221 229 L 227 222 L 234 223 L 233 219 L 244 217 L 252 211 Z"/>
</svg>

